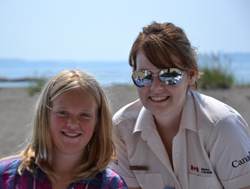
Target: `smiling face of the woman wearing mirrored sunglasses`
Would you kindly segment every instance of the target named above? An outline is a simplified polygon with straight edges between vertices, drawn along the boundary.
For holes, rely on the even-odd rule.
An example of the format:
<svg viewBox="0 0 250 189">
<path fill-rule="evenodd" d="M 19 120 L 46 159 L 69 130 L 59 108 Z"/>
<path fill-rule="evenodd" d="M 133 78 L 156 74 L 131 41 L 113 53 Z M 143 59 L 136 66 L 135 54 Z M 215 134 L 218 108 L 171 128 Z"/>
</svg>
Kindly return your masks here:
<svg viewBox="0 0 250 189">
<path fill-rule="evenodd" d="M 171 56 L 173 61 L 181 66 L 181 61 L 176 56 Z M 139 51 L 136 57 L 137 70 L 159 70 Z M 166 62 L 166 68 L 170 68 Z M 159 71 L 152 71 L 154 75 L 158 75 Z M 162 83 L 157 76 L 154 76 L 150 85 L 145 88 L 137 88 L 139 98 L 143 106 L 149 110 L 156 118 L 157 116 L 168 116 L 171 114 L 181 113 L 188 85 L 195 82 L 195 77 L 188 75 L 187 71 L 182 74 L 182 80 L 177 85 L 169 86 Z"/>
</svg>

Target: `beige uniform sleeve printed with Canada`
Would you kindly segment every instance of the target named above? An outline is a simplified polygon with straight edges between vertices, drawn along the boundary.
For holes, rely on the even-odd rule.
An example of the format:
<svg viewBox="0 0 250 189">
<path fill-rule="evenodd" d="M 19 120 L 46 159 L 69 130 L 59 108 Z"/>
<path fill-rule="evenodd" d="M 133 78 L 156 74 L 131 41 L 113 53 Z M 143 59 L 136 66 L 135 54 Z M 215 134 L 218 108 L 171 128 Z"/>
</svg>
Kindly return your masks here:
<svg viewBox="0 0 250 189">
<path fill-rule="evenodd" d="M 217 122 L 208 148 L 213 169 L 226 189 L 250 186 L 250 132 L 240 115 L 230 114 Z"/>
</svg>

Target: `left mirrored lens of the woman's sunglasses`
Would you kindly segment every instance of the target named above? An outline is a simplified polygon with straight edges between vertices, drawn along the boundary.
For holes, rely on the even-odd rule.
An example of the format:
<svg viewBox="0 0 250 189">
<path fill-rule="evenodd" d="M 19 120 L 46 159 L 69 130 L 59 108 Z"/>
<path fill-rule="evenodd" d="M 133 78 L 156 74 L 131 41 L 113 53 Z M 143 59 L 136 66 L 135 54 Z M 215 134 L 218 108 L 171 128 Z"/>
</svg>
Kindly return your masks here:
<svg viewBox="0 0 250 189">
<path fill-rule="evenodd" d="M 152 73 L 148 70 L 145 71 L 135 71 L 132 74 L 132 79 L 134 84 L 139 88 L 144 88 L 148 86 L 152 81 Z"/>
</svg>

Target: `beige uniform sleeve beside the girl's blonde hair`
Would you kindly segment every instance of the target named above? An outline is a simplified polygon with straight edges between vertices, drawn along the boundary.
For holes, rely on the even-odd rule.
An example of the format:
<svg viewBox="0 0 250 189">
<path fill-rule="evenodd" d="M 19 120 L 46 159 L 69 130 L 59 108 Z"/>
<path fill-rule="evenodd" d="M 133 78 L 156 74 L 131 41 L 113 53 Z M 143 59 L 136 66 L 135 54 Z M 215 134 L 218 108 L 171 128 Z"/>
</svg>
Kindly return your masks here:
<svg viewBox="0 0 250 189">
<path fill-rule="evenodd" d="M 130 162 L 128 160 L 128 149 L 125 143 L 125 136 L 122 135 L 118 125 L 114 123 L 114 139 L 116 144 L 116 159 L 110 164 L 110 168 L 115 170 L 123 177 L 128 187 L 140 187 L 135 174 L 129 169 Z"/>
</svg>

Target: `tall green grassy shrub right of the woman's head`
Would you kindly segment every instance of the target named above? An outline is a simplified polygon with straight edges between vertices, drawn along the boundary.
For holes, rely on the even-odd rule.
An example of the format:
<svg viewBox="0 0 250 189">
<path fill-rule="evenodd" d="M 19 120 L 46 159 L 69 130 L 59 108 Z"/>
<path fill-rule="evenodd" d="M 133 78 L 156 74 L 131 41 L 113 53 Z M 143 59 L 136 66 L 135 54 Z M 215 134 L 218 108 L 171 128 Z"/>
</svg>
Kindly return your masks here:
<svg viewBox="0 0 250 189">
<path fill-rule="evenodd" d="M 231 59 L 222 54 L 203 54 L 199 56 L 200 71 L 198 80 L 202 89 L 228 89 L 234 84 L 231 72 Z"/>
</svg>

